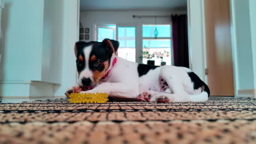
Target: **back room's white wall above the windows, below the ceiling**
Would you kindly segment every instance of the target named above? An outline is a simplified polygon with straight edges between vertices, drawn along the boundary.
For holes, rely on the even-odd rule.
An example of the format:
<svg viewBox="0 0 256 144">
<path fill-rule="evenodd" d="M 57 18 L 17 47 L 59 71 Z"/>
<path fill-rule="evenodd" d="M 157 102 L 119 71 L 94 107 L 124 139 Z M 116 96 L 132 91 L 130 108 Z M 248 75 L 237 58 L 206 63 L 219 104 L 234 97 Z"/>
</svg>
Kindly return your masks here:
<svg viewBox="0 0 256 144">
<path fill-rule="evenodd" d="M 100 24 L 123 24 L 123 25 L 138 25 L 138 24 L 154 24 L 155 18 L 133 18 L 132 15 L 171 15 L 184 14 L 186 11 L 82 11 L 80 13 L 80 22 L 83 28 L 90 28 L 90 39 L 95 40 L 94 26 Z M 171 17 L 157 17 L 157 24 L 170 24 Z"/>
</svg>

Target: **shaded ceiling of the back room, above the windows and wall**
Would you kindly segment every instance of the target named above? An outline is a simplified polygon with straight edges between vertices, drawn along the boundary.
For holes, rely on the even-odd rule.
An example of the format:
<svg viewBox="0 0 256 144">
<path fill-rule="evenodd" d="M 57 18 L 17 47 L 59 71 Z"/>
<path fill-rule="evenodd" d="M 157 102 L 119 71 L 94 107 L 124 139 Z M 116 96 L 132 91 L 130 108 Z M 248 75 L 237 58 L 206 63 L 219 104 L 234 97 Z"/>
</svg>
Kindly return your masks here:
<svg viewBox="0 0 256 144">
<path fill-rule="evenodd" d="M 187 0 L 80 0 L 80 10 L 187 10 Z"/>
</svg>

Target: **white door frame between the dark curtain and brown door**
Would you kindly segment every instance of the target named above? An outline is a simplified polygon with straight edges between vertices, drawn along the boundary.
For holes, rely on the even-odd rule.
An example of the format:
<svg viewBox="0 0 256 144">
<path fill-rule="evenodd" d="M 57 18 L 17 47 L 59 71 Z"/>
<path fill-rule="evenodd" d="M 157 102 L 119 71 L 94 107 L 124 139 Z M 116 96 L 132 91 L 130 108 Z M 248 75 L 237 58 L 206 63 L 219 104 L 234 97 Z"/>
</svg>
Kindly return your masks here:
<svg viewBox="0 0 256 144">
<path fill-rule="evenodd" d="M 187 0 L 187 7 L 189 68 L 207 83 L 204 1 Z"/>
</svg>

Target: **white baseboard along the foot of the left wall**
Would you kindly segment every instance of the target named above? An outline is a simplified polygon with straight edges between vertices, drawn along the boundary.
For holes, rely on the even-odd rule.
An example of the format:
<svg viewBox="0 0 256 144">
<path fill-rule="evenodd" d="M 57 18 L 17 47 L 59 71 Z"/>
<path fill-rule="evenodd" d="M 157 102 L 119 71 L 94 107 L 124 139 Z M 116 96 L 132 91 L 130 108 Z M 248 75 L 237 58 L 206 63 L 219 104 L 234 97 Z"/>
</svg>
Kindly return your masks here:
<svg viewBox="0 0 256 144">
<path fill-rule="evenodd" d="M 0 81 L 2 98 L 53 98 L 56 83 L 42 81 Z"/>
</svg>

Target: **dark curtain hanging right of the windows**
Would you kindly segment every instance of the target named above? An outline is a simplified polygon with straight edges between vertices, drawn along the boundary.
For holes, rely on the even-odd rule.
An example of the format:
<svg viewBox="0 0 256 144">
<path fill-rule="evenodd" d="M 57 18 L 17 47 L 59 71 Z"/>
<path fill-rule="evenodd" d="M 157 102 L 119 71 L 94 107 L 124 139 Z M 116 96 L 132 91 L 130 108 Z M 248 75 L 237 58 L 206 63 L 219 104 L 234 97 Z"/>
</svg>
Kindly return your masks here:
<svg viewBox="0 0 256 144">
<path fill-rule="evenodd" d="M 189 68 L 187 15 L 172 15 L 174 65 Z"/>
</svg>

